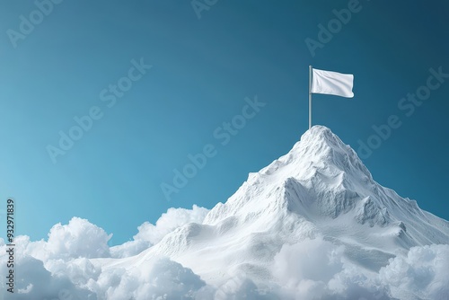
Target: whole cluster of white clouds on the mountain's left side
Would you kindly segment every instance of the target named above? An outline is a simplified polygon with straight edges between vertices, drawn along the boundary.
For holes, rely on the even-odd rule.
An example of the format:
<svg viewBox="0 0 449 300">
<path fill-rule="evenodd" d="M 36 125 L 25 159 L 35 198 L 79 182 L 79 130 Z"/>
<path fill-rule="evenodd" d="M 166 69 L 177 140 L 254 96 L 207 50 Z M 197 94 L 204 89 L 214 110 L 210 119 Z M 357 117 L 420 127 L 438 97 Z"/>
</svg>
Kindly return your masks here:
<svg viewBox="0 0 449 300">
<path fill-rule="evenodd" d="M 170 208 L 156 222 L 139 226 L 135 240 L 118 247 L 108 246 L 111 234 L 89 221 L 74 217 L 68 225 L 54 225 L 48 241 L 15 238 L 14 299 L 196 299 L 212 298 L 208 287 L 190 269 L 167 258 L 145 260 L 138 269 L 102 269 L 94 258 L 134 255 L 159 242 L 164 234 L 191 222 L 201 223 L 208 210 Z M 0 239 L 0 273 L 6 274 L 6 245 Z M 5 290 L 5 283 L 0 282 Z"/>
</svg>

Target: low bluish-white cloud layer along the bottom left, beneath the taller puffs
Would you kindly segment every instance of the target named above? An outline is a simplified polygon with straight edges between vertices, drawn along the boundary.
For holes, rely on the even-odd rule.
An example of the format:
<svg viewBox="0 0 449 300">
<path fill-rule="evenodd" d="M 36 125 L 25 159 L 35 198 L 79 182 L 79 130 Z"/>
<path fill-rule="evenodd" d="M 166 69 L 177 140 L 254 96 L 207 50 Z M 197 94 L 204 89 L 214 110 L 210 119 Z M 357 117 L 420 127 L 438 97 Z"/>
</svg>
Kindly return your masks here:
<svg viewBox="0 0 449 300">
<path fill-rule="evenodd" d="M 6 272 L 4 257 L 0 259 Z M 49 271 L 48 269 L 51 271 Z M 212 289 L 190 269 L 167 258 L 146 260 L 139 269 L 95 268 L 87 259 L 41 260 L 22 256 L 16 260 L 15 293 L 11 299 L 146 300 L 211 298 Z M 4 280 L 0 288 L 5 290 Z"/>
</svg>

